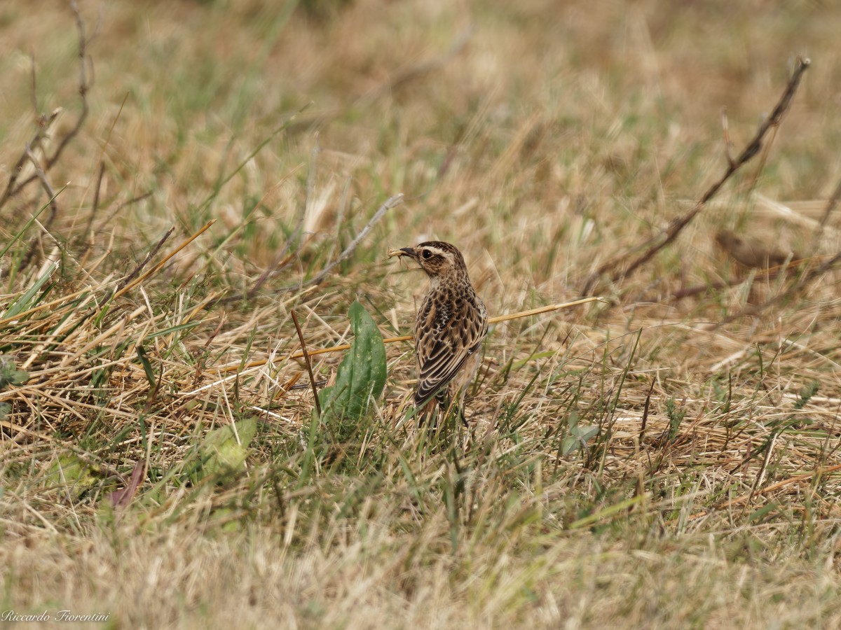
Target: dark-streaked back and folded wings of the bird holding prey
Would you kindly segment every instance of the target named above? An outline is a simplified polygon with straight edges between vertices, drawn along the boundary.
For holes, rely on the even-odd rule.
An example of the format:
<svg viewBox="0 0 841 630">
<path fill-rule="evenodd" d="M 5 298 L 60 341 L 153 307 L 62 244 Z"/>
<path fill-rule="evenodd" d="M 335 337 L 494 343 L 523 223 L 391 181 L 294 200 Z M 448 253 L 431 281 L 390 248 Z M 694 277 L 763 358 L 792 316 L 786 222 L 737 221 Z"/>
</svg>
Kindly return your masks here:
<svg viewBox="0 0 841 630">
<path fill-rule="evenodd" d="M 478 299 L 478 298 L 477 298 Z M 488 333 L 484 307 L 466 300 L 458 313 L 437 312 L 434 304 L 422 308 L 415 326 L 418 360 L 418 388 L 415 406 L 429 402 L 443 386 L 452 381 L 468 357 L 479 349 Z"/>
</svg>

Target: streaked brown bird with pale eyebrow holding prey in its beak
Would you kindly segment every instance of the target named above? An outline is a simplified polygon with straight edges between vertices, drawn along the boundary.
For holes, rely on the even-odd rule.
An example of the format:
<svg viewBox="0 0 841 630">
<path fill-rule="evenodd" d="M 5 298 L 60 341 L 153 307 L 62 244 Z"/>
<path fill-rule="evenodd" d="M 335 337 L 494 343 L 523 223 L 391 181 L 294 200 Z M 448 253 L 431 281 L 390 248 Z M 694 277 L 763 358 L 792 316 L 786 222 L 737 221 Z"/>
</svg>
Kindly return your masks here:
<svg viewBox="0 0 841 630">
<path fill-rule="evenodd" d="M 431 413 L 433 407 L 427 403 L 435 396 L 445 411 L 455 402 L 465 422 L 461 399 L 479 368 L 488 312 L 470 284 L 464 257 L 451 244 L 437 240 L 393 249 L 389 256 L 417 261 L 430 280 L 415 318 L 415 407 L 424 415 Z"/>
</svg>

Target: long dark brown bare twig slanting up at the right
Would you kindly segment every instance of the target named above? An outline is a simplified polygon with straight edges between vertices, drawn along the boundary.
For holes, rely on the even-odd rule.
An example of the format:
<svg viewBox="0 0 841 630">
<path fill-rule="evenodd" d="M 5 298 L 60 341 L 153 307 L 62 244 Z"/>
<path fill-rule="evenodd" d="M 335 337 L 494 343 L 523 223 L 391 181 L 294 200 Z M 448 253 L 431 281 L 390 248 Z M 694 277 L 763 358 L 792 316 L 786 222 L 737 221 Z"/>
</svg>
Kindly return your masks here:
<svg viewBox="0 0 841 630">
<path fill-rule="evenodd" d="M 712 197 L 715 197 L 724 183 L 733 176 L 733 173 L 738 171 L 739 168 L 751 160 L 754 155 L 759 153 L 759 150 L 762 149 L 762 142 L 765 135 L 768 134 L 770 129 L 776 129 L 782 122 L 785 112 L 791 105 L 791 99 L 794 97 L 797 87 L 800 85 L 803 73 L 807 70 L 810 63 L 811 62 L 808 59 L 797 57 L 795 70 L 791 74 L 791 78 L 785 86 L 785 91 L 782 93 L 780 100 L 777 102 L 774 111 L 771 112 L 771 115 L 768 118 L 765 118 L 761 125 L 759 125 L 759 129 L 757 129 L 754 138 L 745 145 L 744 149 L 735 160 L 729 155 L 729 150 L 725 151 L 725 156 L 727 157 L 727 171 L 724 171 L 721 178 L 719 178 L 718 181 L 707 189 L 696 205 L 692 207 L 688 213 L 675 218 L 669 225 L 669 229 L 664 234 L 660 234 L 653 239 L 648 240 L 647 243 L 641 245 L 640 247 L 647 247 L 647 249 L 645 249 L 642 254 L 638 255 L 637 258 L 632 260 L 627 266 L 622 266 L 622 262 L 627 260 L 627 254 L 608 260 L 604 265 L 601 265 L 584 283 L 584 290 L 581 291 L 582 293 L 589 293 L 592 291 L 600 276 L 608 272 L 611 272 L 611 282 L 614 283 L 630 276 L 634 271 L 647 263 L 648 260 L 651 260 L 653 256 L 660 251 L 660 249 L 663 249 L 666 245 L 672 243 L 674 239 L 678 237 L 683 228 L 689 225 L 693 218 L 696 218 L 696 215 L 701 212 L 703 207 L 711 200 Z"/>
</svg>

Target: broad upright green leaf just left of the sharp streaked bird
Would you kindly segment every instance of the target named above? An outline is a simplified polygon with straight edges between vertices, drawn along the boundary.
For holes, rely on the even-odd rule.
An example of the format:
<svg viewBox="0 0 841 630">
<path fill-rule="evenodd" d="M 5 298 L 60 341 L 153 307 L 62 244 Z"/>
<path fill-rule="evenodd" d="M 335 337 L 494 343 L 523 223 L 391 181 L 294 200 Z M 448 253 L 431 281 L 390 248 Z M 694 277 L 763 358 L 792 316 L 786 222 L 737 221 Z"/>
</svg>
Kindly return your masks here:
<svg viewBox="0 0 841 630">
<path fill-rule="evenodd" d="M 320 393 L 325 420 L 358 420 L 385 386 L 385 345 L 377 324 L 359 302 L 353 302 L 347 317 L 351 320 L 353 342 L 339 365 L 336 385 Z"/>
</svg>

